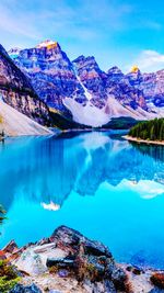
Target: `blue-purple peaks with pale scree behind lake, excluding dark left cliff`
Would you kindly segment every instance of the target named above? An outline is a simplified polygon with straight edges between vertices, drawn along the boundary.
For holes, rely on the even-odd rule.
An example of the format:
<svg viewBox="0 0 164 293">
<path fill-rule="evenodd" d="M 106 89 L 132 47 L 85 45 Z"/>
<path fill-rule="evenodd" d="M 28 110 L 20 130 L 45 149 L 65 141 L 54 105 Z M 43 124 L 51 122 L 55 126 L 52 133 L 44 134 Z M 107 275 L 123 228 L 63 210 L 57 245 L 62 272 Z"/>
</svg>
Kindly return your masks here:
<svg viewBox="0 0 164 293">
<path fill-rule="evenodd" d="M 148 77 L 137 67 L 128 75 L 118 67 L 104 72 L 93 56 L 82 55 L 71 61 L 52 41 L 9 54 L 49 110 L 79 124 L 97 127 L 113 117 L 150 120 L 164 115 L 155 74 Z"/>
</svg>

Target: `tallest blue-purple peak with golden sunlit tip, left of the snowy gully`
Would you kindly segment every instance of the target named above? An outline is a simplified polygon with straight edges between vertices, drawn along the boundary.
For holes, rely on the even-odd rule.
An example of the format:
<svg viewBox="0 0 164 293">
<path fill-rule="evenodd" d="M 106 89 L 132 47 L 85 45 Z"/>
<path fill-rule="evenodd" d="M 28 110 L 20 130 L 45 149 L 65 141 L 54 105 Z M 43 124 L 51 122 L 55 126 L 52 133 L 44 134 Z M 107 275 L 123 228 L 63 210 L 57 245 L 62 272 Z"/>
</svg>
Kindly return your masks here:
<svg viewBox="0 0 164 293">
<path fill-rule="evenodd" d="M 31 79 L 35 91 L 49 108 L 68 114 L 62 99 L 67 97 L 86 100 L 72 64 L 58 43 L 40 43 L 35 48 L 21 50 L 13 59 Z"/>
</svg>

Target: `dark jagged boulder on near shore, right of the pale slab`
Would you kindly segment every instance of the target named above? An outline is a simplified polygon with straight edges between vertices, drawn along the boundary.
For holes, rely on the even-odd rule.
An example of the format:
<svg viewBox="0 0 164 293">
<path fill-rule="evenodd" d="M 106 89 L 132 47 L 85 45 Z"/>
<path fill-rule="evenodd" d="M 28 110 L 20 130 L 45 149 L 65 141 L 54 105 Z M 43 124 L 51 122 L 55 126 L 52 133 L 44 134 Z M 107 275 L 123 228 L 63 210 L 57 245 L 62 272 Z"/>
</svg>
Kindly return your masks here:
<svg viewBox="0 0 164 293">
<path fill-rule="evenodd" d="M 63 249 L 68 256 L 47 258 L 46 266 L 48 268 L 56 267 L 55 271 L 58 272 L 60 269 L 71 270 L 80 282 L 89 280 L 91 284 L 96 283 L 93 292 L 125 290 L 127 275 L 122 269 L 117 268 L 106 246 L 90 240 L 79 232 L 66 226 L 57 228 L 50 239 L 56 248 Z M 102 286 L 104 291 L 102 291 Z"/>
</svg>

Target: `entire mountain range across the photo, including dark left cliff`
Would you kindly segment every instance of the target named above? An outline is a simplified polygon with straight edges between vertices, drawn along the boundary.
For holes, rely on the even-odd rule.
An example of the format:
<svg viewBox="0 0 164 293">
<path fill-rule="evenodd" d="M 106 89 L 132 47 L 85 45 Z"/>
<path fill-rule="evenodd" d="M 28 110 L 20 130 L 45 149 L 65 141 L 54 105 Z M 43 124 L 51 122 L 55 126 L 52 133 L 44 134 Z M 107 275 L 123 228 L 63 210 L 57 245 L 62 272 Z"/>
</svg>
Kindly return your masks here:
<svg viewBox="0 0 164 293">
<path fill-rule="evenodd" d="M 133 67 L 124 75 L 113 67 L 104 72 L 93 56 L 71 61 L 52 41 L 8 54 L 1 46 L 0 93 L 42 124 L 56 124 L 62 117 L 97 127 L 114 117 L 164 116 L 164 70 L 141 74 Z"/>
</svg>

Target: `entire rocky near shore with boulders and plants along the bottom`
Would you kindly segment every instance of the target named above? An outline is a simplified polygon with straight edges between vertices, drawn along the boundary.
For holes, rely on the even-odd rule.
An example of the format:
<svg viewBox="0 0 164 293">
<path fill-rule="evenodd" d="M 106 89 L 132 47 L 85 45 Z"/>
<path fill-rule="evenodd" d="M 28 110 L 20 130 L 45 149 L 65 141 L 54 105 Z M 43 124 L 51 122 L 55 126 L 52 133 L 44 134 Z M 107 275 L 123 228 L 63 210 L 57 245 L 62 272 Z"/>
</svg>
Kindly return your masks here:
<svg viewBox="0 0 164 293">
<path fill-rule="evenodd" d="M 103 244 L 60 226 L 49 238 L 0 250 L 0 292 L 157 293 L 164 272 L 118 264 Z"/>
</svg>

